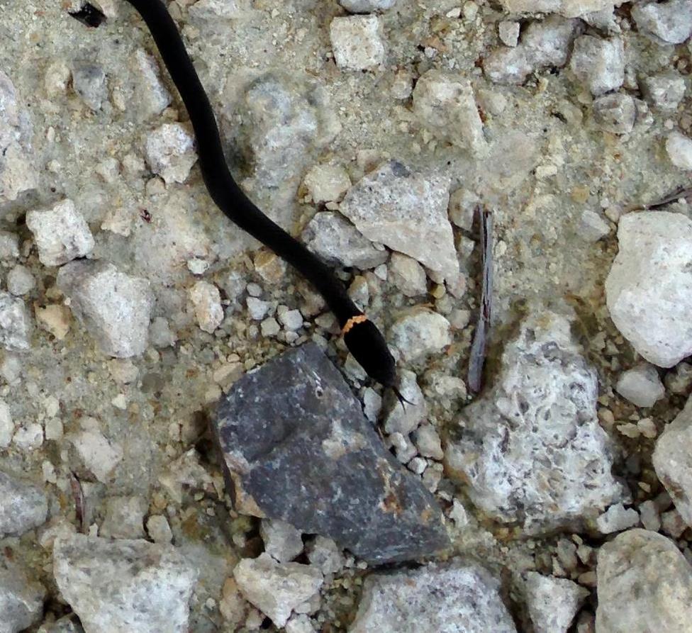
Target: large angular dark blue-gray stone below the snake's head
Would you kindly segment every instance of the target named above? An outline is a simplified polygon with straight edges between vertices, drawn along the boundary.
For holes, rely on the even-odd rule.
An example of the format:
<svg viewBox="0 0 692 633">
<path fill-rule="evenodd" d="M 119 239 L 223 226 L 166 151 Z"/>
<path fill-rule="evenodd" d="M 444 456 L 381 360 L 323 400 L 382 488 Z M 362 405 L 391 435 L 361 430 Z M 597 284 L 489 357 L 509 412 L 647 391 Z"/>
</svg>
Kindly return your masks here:
<svg viewBox="0 0 692 633">
<path fill-rule="evenodd" d="M 242 512 L 330 537 L 372 564 L 449 546 L 435 498 L 384 449 L 316 344 L 243 376 L 215 428 Z"/>
</svg>

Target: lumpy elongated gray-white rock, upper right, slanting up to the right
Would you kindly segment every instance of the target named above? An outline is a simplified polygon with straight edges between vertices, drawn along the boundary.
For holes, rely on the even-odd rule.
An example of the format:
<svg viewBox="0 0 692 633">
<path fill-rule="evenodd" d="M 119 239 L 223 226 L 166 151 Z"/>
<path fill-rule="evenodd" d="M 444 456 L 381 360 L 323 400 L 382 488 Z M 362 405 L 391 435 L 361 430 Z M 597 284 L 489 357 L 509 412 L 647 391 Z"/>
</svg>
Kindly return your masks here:
<svg viewBox="0 0 692 633">
<path fill-rule="evenodd" d="M 579 20 L 549 16 L 532 22 L 515 47 L 501 47 L 484 59 L 483 70 L 497 84 L 523 84 L 527 77 L 546 67 L 567 64 L 572 40 L 579 33 Z"/>
</svg>

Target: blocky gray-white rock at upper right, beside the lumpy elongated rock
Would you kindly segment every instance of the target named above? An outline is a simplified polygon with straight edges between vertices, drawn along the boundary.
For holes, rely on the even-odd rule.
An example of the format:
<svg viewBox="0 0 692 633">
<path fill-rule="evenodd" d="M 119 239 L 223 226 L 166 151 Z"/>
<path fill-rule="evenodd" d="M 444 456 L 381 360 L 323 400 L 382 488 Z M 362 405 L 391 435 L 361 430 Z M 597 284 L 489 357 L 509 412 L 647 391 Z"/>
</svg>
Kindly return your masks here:
<svg viewBox="0 0 692 633">
<path fill-rule="evenodd" d="M 617 90 L 625 81 L 625 44 L 621 38 L 581 35 L 574 40 L 569 69 L 594 96 Z"/>
</svg>

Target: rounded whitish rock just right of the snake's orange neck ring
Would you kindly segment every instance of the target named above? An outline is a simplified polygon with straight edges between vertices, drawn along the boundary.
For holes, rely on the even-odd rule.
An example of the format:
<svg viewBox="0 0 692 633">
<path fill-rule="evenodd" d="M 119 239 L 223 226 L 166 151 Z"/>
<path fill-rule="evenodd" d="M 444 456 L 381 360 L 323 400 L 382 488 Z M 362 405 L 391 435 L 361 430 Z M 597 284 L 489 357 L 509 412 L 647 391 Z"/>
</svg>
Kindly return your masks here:
<svg viewBox="0 0 692 633">
<path fill-rule="evenodd" d="M 441 314 L 413 308 L 394 321 L 391 340 L 403 359 L 416 361 L 452 344 L 452 326 Z"/>
</svg>

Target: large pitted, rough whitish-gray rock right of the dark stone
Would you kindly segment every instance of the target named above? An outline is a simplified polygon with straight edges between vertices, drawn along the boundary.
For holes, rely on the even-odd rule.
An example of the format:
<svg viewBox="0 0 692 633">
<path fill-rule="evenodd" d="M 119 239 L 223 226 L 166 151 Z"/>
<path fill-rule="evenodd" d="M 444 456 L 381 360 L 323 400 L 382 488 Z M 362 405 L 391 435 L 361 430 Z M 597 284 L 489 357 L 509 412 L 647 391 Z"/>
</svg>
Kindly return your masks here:
<svg viewBox="0 0 692 633">
<path fill-rule="evenodd" d="M 464 410 L 464 435 L 445 451 L 476 505 L 529 532 L 579 525 L 623 496 L 596 418 L 596 372 L 570 323 L 536 312 L 521 324 L 495 388 Z"/>
</svg>

